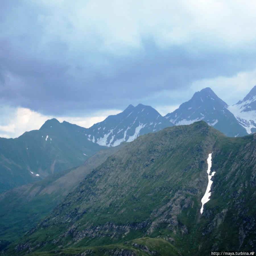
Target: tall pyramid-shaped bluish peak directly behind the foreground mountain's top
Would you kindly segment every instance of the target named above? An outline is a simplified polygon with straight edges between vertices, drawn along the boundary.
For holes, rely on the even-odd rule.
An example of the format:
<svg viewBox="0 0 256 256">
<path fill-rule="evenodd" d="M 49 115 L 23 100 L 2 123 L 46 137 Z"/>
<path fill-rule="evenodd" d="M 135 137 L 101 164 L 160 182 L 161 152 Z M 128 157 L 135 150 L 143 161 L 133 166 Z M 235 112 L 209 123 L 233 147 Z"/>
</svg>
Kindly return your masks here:
<svg viewBox="0 0 256 256">
<path fill-rule="evenodd" d="M 245 129 L 239 125 L 227 107 L 226 102 L 207 87 L 196 92 L 189 101 L 184 102 L 177 110 L 168 113 L 165 117 L 175 125 L 188 125 L 203 120 L 227 136 L 246 135 Z"/>
</svg>

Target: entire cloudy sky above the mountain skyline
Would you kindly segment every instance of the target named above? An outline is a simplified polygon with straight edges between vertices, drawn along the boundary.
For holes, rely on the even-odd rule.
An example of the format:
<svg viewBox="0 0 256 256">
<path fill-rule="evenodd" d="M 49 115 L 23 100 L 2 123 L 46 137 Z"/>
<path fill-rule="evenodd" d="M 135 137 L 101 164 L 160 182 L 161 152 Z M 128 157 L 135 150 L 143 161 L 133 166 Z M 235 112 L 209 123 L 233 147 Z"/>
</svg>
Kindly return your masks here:
<svg viewBox="0 0 256 256">
<path fill-rule="evenodd" d="M 50 118 L 83 127 L 210 87 L 233 105 L 256 84 L 256 2 L 1 1 L 0 137 Z"/>
</svg>

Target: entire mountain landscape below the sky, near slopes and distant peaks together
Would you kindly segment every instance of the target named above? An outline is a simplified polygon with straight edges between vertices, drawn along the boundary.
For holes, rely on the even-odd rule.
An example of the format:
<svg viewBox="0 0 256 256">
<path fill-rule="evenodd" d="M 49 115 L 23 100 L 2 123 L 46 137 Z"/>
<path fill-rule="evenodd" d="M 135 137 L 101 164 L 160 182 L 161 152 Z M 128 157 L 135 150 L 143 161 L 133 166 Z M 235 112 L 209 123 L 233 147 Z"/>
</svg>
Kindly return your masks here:
<svg viewBox="0 0 256 256">
<path fill-rule="evenodd" d="M 2 255 L 255 251 L 255 100 L 205 88 L 165 117 L 129 105 L 1 138 Z"/>
</svg>

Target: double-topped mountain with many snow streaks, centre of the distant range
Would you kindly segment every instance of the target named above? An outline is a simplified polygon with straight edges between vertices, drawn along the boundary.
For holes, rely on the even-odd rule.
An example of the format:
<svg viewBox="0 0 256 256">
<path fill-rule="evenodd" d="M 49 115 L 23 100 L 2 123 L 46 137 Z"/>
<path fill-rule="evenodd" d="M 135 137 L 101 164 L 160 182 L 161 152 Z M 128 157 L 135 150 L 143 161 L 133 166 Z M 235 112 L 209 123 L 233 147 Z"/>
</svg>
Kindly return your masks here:
<svg viewBox="0 0 256 256">
<path fill-rule="evenodd" d="M 117 146 L 135 140 L 139 135 L 173 126 L 150 106 L 129 105 L 123 112 L 110 115 L 86 130 L 89 141 L 102 146 Z"/>
</svg>

